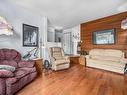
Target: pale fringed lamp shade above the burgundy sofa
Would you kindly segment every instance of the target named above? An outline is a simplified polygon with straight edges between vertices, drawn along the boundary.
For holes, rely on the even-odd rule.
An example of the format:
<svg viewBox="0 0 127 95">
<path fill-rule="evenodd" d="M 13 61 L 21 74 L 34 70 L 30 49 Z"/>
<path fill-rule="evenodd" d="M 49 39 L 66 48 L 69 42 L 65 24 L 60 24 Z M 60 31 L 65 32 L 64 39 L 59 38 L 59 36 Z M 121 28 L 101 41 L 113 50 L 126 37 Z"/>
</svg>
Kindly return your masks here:
<svg viewBox="0 0 127 95">
<path fill-rule="evenodd" d="M 13 28 L 0 16 L 0 35 L 13 35 Z"/>
</svg>

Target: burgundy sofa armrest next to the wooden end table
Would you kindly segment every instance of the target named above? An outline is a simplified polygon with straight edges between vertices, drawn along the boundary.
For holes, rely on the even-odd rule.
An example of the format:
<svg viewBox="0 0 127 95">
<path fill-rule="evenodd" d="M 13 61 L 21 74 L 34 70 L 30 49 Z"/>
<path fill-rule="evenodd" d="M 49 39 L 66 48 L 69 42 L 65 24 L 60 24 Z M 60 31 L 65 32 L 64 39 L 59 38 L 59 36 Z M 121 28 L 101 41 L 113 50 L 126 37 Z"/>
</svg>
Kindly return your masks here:
<svg viewBox="0 0 127 95">
<path fill-rule="evenodd" d="M 28 68 L 31 68 L 31 67 L 34 67 L 35 65 L 35 61 L 34 60 L 22 60 L 22 61 L 19 61 L 18 62 L 18 67 L 28 67 Z"/>
</svg>

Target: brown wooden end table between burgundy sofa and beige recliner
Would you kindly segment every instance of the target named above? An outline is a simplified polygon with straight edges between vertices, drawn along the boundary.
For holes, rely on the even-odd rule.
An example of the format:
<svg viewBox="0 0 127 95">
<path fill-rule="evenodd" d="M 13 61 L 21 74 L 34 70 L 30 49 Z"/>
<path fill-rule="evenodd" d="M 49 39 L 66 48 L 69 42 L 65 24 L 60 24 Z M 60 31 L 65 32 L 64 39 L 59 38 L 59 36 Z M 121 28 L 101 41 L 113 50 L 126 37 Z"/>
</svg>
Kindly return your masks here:
<svg viewBox="0 0 127 95">
<path fill-rule="evenodd" d="M 38 75 L 41 75 L 42 74 L 43 59 L 37 58 L 37 59 L 33 59 L 33 60 L 35 61 L 35 67 L 36 67 Z"/>
</svg>

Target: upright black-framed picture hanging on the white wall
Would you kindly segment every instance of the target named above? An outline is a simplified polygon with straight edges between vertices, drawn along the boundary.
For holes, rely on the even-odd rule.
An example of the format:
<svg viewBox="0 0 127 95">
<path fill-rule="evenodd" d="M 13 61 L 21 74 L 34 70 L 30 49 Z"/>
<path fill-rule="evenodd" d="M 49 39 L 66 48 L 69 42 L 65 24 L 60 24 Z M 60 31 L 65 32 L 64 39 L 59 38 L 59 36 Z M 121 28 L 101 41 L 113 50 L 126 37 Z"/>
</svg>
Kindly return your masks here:
<svg viewBox="0 0 127 95">
<path fill-rule="evenodd" d="M 38 27 L 23 24 L 23 46 L 38 46 Z"/>
</svg>

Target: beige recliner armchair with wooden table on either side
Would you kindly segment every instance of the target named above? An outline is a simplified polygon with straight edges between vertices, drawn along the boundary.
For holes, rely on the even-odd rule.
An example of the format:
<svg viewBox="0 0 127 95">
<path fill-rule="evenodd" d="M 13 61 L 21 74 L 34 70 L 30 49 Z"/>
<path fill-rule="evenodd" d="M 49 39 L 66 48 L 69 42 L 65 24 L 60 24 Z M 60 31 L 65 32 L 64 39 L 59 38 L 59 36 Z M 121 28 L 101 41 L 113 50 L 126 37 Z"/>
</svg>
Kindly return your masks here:
<svg viewBox="0 0 127 95">
<path fill-rule="evenodd" d="M 64 51 L 60 47 L 49 48 L 49 57 L 52 64 L 52 70 L 67 69 L 70 67 L 70 59 L 64 56 Z"/>
</svg>

